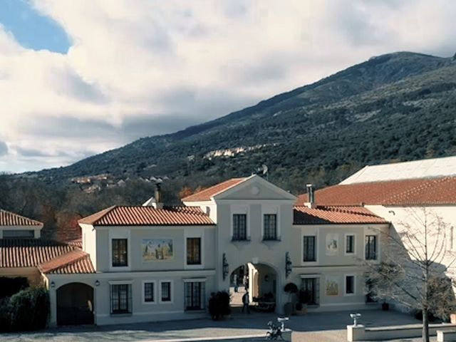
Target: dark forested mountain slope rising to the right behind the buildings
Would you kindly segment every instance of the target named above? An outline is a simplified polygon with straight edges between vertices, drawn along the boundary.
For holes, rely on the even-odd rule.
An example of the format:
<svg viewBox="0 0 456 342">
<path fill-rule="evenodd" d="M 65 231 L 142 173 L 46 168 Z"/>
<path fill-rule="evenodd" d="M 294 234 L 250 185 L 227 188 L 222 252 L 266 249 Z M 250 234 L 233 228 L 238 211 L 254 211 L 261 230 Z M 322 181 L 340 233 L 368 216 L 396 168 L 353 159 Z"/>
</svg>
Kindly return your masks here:
<svg viewBox="0 0 456 342">
<path fill-rule="evenodd" d="M 371 163 L 456 155 L 455 123 L 456 61 L 389 53 L 217 120 L 27 175 L 166 176 L 196 187 L 264 164 L 270 180 L 297 193 Z"/>
</svg>

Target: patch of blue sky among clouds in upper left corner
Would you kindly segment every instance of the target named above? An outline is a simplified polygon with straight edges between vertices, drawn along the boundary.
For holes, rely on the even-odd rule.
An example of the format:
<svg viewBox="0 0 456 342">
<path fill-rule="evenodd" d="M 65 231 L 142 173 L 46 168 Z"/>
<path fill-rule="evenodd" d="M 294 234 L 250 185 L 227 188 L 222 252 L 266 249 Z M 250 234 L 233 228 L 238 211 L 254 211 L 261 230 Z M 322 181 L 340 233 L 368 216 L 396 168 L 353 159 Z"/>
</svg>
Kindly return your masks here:
<svg viewBox="0 0 456 342">
<path fill-rule="evenodd" d="M 71 46 L 63 28 L 27 0 L 0 0 L 0 24 L 25 48 L 67 53 Z"/>
</svg>

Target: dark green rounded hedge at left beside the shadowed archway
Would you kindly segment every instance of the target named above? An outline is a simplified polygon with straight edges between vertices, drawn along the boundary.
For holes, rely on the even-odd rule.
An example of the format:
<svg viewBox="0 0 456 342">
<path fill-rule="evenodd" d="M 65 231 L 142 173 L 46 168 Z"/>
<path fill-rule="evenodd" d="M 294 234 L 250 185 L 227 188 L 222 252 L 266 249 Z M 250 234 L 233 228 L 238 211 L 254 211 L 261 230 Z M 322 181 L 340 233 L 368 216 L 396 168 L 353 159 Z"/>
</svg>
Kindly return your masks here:
<svg viewBox="0 0 456 342">
<path fill-rule="evenodd" d="M 50 306 L 43 288 L 28 288 L 0 300 L 0 331 L 30 331 L 46 328 Z"/>
</svg>

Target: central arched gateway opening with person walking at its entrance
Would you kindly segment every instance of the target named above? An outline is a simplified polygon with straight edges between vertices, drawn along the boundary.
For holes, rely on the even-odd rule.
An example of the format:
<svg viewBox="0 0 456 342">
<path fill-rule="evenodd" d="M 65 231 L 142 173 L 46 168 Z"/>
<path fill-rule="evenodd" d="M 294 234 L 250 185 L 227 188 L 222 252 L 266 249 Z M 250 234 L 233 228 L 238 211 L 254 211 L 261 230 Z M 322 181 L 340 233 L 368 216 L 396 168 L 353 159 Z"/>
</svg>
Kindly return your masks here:
<svg viewBox="0 0 456 342">
<path fill-rule="evenodd" d="M 252 309 L 274 312 L 277 301 L 277 281 L 277 272 L 269 265 L 249 262 L 237 267 L 229 277 L 232 309 L 236 311 L 237 308 L 242 308 L 242 296 L 249 291 Z"/>
</svg>

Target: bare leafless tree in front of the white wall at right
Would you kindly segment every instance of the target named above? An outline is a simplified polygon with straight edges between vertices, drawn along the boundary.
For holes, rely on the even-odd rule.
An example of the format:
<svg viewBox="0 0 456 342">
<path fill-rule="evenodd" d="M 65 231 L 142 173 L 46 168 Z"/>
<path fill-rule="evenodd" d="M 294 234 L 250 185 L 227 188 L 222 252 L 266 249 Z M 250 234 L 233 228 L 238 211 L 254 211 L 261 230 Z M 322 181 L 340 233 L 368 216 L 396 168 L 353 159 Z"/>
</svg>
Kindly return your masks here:
<svg viewBox="0 0 456 342">
<path fill-rule="evenodd" d="M 381 234 L 382 262 L 365 261 L 373 296 L 420 310 L 423 341 L 429 342 L 430 314 L 444 318 L 455 309 L 449 269 L 456 255 L 448 248 L 450 226 L 430 209 L 408 209 L 403 221 Z"/>
</svg>

